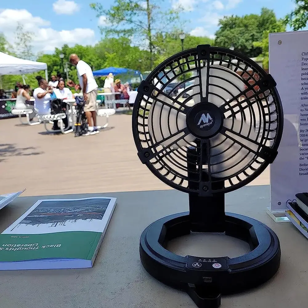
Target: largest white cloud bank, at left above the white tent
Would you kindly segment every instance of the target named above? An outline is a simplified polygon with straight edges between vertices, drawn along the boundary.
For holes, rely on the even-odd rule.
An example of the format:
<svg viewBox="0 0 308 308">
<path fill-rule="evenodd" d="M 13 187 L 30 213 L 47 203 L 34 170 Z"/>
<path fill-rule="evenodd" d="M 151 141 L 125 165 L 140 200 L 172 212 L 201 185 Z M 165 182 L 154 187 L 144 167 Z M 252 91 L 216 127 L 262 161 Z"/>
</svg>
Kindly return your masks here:
<svg viewBox="0 0 308 308">
<path fill-rule="evenodd" d="M 77 43 L 83 45 L 93 45 L 95 43 L 95 33 L 92 29 L 76 28 L 57 31 L 50 27 L 49 21 L 33 16 L 27 10 L 2 10 L 0 11 L 1 31 L 13 47 L 18 23 L 23 26 L 24 31 L 34 33 L 31 45 L 35 53 L 53 52 L 55 47 L 60 48 L 64 44 L 74 46 Z"/>
</svg>

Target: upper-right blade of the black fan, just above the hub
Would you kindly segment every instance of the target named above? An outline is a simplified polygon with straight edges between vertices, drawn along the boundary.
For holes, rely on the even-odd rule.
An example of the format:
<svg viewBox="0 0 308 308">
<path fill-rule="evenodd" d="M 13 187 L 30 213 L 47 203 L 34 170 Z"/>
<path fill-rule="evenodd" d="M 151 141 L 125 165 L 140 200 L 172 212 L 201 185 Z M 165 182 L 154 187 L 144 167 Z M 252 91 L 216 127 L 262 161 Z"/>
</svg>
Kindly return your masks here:
<svg viewBox="0 0 308 308">
<path fill-rule="evenodd" d="M 210 103 L 220 106 L 221 104 L 229 101 L 232 97 L 238 95 L 241 91 L 245 90 L 244 80 L 240 75 L 230 70 L 227 67 L 219 65 L 211 65 L 209 72 L 209 99 Z M 205 85 L 207 80 L 206 67 L 201 68 L 201 83 L 202 83 L 202 95 L 205 96 Z M 193 94 L 195 103 L 200 103 L 199 78 L 196 78 L 193 87 Z M 215 94 L 211 94 L 215 93 Z"/>
</svg>

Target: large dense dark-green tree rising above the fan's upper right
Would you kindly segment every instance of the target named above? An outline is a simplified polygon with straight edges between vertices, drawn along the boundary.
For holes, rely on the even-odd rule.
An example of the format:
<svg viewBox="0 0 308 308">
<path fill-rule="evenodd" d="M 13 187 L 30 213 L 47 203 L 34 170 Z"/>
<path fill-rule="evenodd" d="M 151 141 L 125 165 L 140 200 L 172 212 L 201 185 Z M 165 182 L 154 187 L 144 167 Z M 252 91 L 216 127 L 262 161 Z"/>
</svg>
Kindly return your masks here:
<svg viewBox="0 0 308 308">
<path fill-rule="evenodd" d="M 263 32 L 268 31 L 277 23 L 273 10 L 262 8 L 261 14 L 240 16 L 225 16 L 220 19 L 220 28 L 215 33 L 215 45 L 230 48 L 245 53 L 253 58 L 262 53 L 262 48 L 254 45 L 263 38 Z"/>
</svg>

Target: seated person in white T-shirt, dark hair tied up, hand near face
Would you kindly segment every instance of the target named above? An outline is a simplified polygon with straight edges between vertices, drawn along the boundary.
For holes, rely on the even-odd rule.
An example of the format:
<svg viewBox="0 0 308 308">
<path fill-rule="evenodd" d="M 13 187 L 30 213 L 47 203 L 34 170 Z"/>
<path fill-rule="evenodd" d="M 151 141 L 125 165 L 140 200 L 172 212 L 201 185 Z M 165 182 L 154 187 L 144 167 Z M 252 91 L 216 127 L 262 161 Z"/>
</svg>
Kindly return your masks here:
<svg viewBox="0 0 308 308">
<path fill-rule="evenodd" d="M 35 77 L 39 87 L 34 89 L 33 97 L 35 98 L 34 108 L 39 115 L 46 115 L 51 112 L 50 101 L 52 89 L 49 89 L 47 81 L 42 76 Z"/>
</svg>

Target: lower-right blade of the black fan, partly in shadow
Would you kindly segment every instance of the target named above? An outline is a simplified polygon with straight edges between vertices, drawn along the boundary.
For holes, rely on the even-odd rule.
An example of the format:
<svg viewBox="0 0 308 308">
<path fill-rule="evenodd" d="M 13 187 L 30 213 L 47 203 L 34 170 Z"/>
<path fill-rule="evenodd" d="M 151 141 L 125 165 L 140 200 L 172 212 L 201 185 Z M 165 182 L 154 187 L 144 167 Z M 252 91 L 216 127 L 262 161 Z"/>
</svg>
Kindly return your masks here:
<svg viewBox="0 0 308 308">
<path fill-rule="evenodd" d="M 231 177 L 251 162 L 255 154 L 242 145 L 254 152 L 258 150 L 258 145 L 249 141 L 249 139 L 257 140 L 257 133 L 253 127 L 235 119 L 225 119 L 224 126 L 242 137 L 226 132 L 227 136 L 231 136 L 239 143 L 222 134 L 210 138 L 210 164 L 213 177 Z"/>
</svg>

